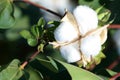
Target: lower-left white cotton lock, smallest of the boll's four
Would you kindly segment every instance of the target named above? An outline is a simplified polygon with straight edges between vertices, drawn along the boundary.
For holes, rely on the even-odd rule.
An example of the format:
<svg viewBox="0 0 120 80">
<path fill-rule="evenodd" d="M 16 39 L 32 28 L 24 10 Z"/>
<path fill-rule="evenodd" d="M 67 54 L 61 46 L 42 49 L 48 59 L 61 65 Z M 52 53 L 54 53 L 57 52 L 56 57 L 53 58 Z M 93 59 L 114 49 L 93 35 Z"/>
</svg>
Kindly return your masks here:
<svg viewBox="0 0 120 80">
<path fill-rule="evenodd" d="M 63 58 L 68 63 L 77 62 L 81 59 L 78 41 L 75 43 L 71 43 L 69 45 L 60 47 L 60 52 Z"/>
</svg>

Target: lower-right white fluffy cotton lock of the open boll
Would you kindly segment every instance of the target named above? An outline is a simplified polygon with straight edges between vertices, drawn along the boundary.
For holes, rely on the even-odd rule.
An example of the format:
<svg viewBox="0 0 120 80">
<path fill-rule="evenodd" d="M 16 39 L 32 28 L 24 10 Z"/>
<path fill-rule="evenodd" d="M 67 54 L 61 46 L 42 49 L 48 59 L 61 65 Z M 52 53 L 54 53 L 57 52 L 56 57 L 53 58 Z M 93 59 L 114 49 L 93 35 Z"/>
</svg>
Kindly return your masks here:
<svg viewBox="0 0 120 80">
<path fill-rule="evenodd" d="M 80 49 L 85 58 L 90 61 L 91 56 L 99 54 L 101 50 L 101 41 L 99 35 L 90 35 L 81 39 Z"/>
</svg>

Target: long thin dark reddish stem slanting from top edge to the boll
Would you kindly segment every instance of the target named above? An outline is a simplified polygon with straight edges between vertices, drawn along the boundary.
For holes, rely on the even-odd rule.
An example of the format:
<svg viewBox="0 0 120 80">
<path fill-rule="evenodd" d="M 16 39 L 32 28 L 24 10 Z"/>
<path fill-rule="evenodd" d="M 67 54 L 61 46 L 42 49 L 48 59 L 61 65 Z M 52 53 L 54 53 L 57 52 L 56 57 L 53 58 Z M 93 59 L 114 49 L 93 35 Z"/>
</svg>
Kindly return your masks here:
<svg viewBox="0 0 120 80">
<path fill-rule="evenodd" d="M 19 0 L 14 0 L 14 1 L 19 1 Z M 59 18 L 62 18 L 62 16 L 61 16 L 60 14 L 58 14 L 58 13 L 56 13 L 56 12 L 50 10 L 50 9 L 47 9 L 47 8 L 41 6 L 40 4 L 34 3 L 34 2 L 32 2 L 32 1 L 30 1 L 30 0 L 20 0 L 20 1 L 23 1 L 23 2 L 25 2 L 25 3 L 29 3 L 29 4 L 31 4 L 31 5 L 33 5 L 33 6 L 36 6 L 36 7 L 40 8 L 40 9 L 43 9 L 43 10 L 49 12 L 49 13 L 52 13 L 52 14 L 56 15 L 56 16 L 58 16 Z"/>
</svg>

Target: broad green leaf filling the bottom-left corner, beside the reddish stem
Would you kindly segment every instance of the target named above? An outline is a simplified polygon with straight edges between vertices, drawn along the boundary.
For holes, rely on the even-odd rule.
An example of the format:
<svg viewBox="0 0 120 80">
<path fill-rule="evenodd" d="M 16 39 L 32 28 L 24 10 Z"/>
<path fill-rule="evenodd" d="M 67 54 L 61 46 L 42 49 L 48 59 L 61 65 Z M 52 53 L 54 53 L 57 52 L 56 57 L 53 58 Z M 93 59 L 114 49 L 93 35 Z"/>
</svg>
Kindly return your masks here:
<svg viewBox="0 0 120 80">
<path fill-rule="evenodd" d="M 7 68 L 0 72 L 0 80 L 18 80 L 23 75 L 18 66 L 19 64 L 20 61 L 14 59 Z"/>
</svg>

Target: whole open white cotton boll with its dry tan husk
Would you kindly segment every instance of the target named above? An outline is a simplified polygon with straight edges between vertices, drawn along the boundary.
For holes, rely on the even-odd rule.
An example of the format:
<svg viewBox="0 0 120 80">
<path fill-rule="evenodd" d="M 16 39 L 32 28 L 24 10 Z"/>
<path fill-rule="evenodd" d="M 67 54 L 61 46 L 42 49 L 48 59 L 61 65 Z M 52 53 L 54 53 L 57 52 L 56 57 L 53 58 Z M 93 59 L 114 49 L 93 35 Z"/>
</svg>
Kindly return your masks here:
<svg viewBox="0 0 120 80">
<path fill-rule="evenodd" d="M 98 21 L 96 11 L 88 6 L 77 6 L 73 14 L 66 10 L 61 24 L 54 31 L 56 41 L 50 44 L 54 48 L 59 48 L 62 57 L 68 63 L 75 62 L 83 67 L 91 62 L 97 64 L 99 62 L 96 56 L 100 54 L 107 39 L 109 26 L 99 26 Z"/>
</svg>

